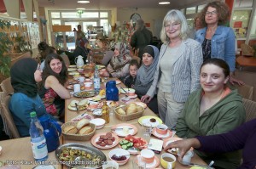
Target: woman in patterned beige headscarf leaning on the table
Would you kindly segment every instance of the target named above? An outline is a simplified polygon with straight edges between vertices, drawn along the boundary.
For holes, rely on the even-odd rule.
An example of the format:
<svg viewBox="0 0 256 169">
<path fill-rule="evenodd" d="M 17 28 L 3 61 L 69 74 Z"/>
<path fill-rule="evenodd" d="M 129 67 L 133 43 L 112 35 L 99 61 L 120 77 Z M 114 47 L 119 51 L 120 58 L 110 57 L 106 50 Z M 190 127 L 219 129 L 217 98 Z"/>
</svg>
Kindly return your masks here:
<svg viewBox="0 0 256 169">
<path fill-rule="evenodd" d="M 118 42 L 114 46 L 113 57 L 108 64 L 108 72 L 101 73 L 102 76 L 122 78 L 129 74 L 129 63 L 131 61 L 130 51 L 126 49 L 124 42 Z"/>
</svg>

